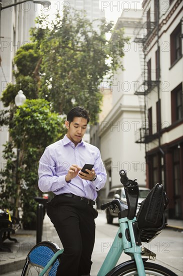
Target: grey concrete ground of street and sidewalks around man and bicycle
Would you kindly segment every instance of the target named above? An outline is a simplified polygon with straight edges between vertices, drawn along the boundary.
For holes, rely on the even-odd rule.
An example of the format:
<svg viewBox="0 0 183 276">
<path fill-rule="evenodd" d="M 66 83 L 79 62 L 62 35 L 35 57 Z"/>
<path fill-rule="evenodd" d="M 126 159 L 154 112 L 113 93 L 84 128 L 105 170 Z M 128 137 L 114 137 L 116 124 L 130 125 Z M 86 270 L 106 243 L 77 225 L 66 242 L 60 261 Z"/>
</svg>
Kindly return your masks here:
<svg viewBox="0 0 183 276">
<path fill-rule="evenodd" d="M 92 276 L 97 275 L 99 267 L 104 260 L 117 231 L 117 218 L 114 219 L 114 223 L 112 225 L 107 225 L 105 213 L 100 210 L 98 213 L 99 215 L 97 219 L 95 219 L 96 238 L 92 254 Z M 156 263 L 161 265 L 165 264 L 165 266 L 169 265 L 169 269 L 174 269 L 173 271 L 179 276 L 183 275 L 182 243 L 178 243 L 176 237 L 181 235 L 181 233 L 183 233 L 182 222 L 168 220 L 168 227 L 163 230 L 164 239 L 162 240 L 163 234 L 161 233 L 153 240 L 153 242 L 145 244 L 145 247 L 157 254 L 155 260 Z M 0 275 L 20 276 L 21 269 L 25 262 L 25 257 L 36 243 L 36 231 L 19 229 L 14 236 L 18 240 L 18 243 L 9 242 L 8 240 L 4 242 L 4 244 L 11 246 L 12 252 L 0 252 Z M 169 236 L 172 238 L 169 238 Z M 58 244 L 59 247 L 62 247 L 57 233 L 46 215 L 43 221 L 42 241 L 43 240 L 51 240 Z M 174 240 L 177 242 L 175 248 L 172 247 Z M 149 246 L 151 247 L 149 248 Z M 172 253 L 170 247 L 172 247 Z M 176 248 L 177 250 L 175 250 Z M 127 255 L 122 254 L 119 263 L 128 259 L 129 257 Z"/>
</svg>

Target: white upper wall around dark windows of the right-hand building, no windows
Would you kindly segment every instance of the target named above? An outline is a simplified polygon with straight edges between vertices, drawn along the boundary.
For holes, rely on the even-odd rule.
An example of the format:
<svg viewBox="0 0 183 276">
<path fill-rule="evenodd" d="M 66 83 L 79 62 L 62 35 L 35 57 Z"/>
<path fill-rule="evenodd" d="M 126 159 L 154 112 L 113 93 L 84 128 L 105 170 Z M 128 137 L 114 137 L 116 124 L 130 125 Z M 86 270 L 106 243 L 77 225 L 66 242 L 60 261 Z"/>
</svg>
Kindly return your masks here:
<svg viewBox="0 0 183 276">
<path fill-rule="evenodd" d="M 170 65 L 170 34 L 176 28 L 176 26 L 182 20 L 181 9 L 183 3 L 179 5 L 179 8 L 172 14 L 171 8 L 177 1 L 174 1 L 169 6 L 169 1 L 165 1 L 164 4 L 159 2 L 160 23 L 164 23 L 159 31 L 159 47 L 160 47 L 160 100 L 161 100 L 161 128 L 165 128 L 171 125 L 171 91 L 182 82 L 183 79 L 183 64 L 182 58 L 179 59 L 175 65 L 171 68 Z M 163 4 L 163 6 L 162 6 Z M 153 1 L 149 2 L 151 8 L 153 8 Z M 147 8 L 146 8 L 147 9 Z M 182 30 L 183 31 L 183 30 Z M 155 72 L 155 51 L 157 50 L 157 37 L 151 41 L 149 45 L 149 52 L 146 57 L 146 61 L 151 58 L 151 71 Z M 183 43 L 182 43 L 183 47 Z M 183 51 L 182 51 L 183 52 Z M 153 80 L 153 73 L 151 74 Z M 152 107 L 152 133 L 156 133 L 156 102 L 158 100 L 157 88 L 155 87 L 147 95 L 147 109 Z M 178 129 L 178 130 L 177 130 Z M 179 134 L 178 134 L 179 131 Z M 182 126 L 174 128 L 169 132 L 165 132 L 161 136 L 161 145 L 176 140 L 180 135 L 183 135 Z M 158 141 L 149 143 L 148 150 L 156 148 Z"/>
</svg>

